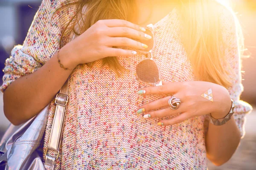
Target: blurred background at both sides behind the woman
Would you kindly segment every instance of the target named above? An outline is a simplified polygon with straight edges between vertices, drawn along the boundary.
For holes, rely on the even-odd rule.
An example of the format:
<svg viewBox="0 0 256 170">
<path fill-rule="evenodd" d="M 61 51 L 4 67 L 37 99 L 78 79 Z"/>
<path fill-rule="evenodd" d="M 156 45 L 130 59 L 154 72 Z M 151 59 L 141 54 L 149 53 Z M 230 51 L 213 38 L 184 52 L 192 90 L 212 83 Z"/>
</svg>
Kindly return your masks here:
<svg viewBox="0 0 256 170">
<path fill-rule="evenodd" d="M 219 0 L 236 12 L 244 31 L 246 54 L 242 61 L 244 92 L 241 99 L 256 107 L 256 0 Z M 41 0 L 0 0 L 0 69 L 14 45 L 22 44 Z M 3 72 L 0 71 L 0 77 Z M 2 84 L 2 79 L 0 80 Z M 0 93 L 0 139 L 9 125 L 3 114 L 3 94 Z M 209 170 L 256 170 L 256 111 L 247 115 L 246 135 L 234 156 L 224 165 Z"/>
</svg>

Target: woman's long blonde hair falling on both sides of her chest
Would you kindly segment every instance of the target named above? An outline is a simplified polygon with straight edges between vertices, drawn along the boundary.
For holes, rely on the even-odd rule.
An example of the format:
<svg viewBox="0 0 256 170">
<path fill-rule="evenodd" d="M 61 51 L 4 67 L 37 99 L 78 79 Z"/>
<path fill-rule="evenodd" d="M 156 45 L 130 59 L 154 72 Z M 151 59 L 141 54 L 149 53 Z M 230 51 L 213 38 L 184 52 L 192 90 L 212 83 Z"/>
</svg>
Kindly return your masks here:
<svg viewBox="0 0 256 170">
<path fill-rule="evenodd" d="M 73 20 L 76 22 L 73 22 L 71 27 L 73 29 L 70 30 L 77 35 L 81 35 L 98 20 L 130 20 L 131 14 L 136 10 L 134 3 L 135 0 L 79 0 L 76 3 L 70 3 L 68 5 L 76 5 L 77 10 L 64 32 Z M 218 12 L 213 7 L 215 4 L 216 2 L 212 0 L 180 0 L 183 37 L 185 37 L 183 45 L 192 64 L 195 79 L 213 82 L 228 88 L 231 85 L 230 73 L 224 68 L 224 65 L 228 63 L 224 57 L 224 50 L 221 50 L 221 46 L 225 46 L 225 43 L 222 40 Z M 85 14 L 82 11 L 84 5 L 87 6 Z M 84 19 L 85 15 L 86 19 Z M 236 23 L 238 23 L 237 20 Z M 241 33 L 239 24 L 237 28 Z M 239 51 L 242 52 L 243 37 L 242 34 L 239 36 L 241 37 Z M 92 64 L 93 62 L 87 63 L 88 66 Z M 118 75 L 125 70 L 116 57 L 104 58 L 103 64 L 107 64 Z"/>
</svg>

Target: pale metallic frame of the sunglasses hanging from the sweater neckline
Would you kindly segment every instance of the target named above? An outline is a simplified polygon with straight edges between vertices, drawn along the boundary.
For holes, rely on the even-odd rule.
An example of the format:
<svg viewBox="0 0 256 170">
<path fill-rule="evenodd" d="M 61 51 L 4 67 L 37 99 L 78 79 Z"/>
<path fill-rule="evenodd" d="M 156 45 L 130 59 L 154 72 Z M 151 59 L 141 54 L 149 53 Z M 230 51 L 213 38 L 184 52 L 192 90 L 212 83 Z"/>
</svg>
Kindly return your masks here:
<svg viewBox="0 0 256 170">
<path fill-rule="evenodd" d="M 157 62 L 153 59 L 154 57 L 153 57 L 153 55 L 152 55 L 152 49 L 154 49 L 154 46 L 155 46 L 154 26 L 153 26 L 153 24 L 148 24 L 148 25 L 146 26 L 146 29 L 148 29 L 149 31 L 151 31 L 151 34 L 152 34 L 152 36 L 153 36 L 153 47 L 152 47 L 149 51 L 138 50 L 138 51 L 140 51 L 142 54 L 145 54 L 145 56 L 147 56 L 147 58 L 142 59 L 140 62 L 143 62 L 143 61 L 146 60 L 146 59 L 150 59 L 150 60 L 152 60 L 152 61 L 157 65 Z M 150 58 L 148 57 L 149 55 L 150 55 Z M 138 63 L 138 65 L 140 64 L 140 62 Z M 137 66 L 138 66 L 138 65 L 137 65 Z M 160 77 L 161 77 L 161 74 L 160 74 L 160 69 L 159 69 L 158 65 L 157 65 L 157 70 L 158 70 L 158 80 L 157 80 L 157 82 L 147 82 L 147 83 L 153 84 L 153 85 L 155 85 L 155 86 L 163 85 L 162 80 L 161 80 L 161 78 L 160 78 Z M 137 72 L 137 67 L 136 67 L 136 72 Z M 140 77 L 139 77 L 139 79 L 140 79 Z M 142 79 L 140 79 L 140 80 L 142 80 Z M 142 80 L 142 81 L 143 81 L 143 80 Z M 145 82 L 145 81 L 143 81 L 143 82 Z"/>
</svg>

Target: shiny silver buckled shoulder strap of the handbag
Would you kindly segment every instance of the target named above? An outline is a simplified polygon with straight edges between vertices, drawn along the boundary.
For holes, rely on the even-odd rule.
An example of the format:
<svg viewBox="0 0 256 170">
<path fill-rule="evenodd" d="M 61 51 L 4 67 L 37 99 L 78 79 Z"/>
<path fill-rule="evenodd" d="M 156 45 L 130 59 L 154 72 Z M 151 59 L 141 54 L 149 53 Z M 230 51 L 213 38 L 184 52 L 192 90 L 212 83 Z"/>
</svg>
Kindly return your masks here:
<svg viewBox="0 0 256 170">
<path fill-rule="evenodd" d="M 64 120 L 66 115 L 66 106 L 68 102 L 68 86 L 69 79 L 66 80 L 64 85 L 61 87 L 59 93 L 55 97 L 55 114 L 52 122 L 52 130 L 50 133 L 48 147 L 45 151 L 45 168 L 47 170 L 54 170 L 55 160 L 58 159 L 59 156 L 59 147 L 62 139 L 62 132 L 64 126 Z M 52 157 L 47 155 L 48 150 L 53 150 L 57 152 L 56 157 Z"/>
</svg>

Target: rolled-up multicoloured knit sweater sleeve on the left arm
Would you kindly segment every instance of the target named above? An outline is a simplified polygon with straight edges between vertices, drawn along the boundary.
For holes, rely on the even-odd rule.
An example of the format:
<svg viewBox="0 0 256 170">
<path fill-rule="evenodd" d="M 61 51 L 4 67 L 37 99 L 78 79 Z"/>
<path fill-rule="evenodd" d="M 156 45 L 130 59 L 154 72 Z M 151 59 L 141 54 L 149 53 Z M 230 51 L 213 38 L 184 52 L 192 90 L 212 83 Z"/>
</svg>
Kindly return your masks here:
<svg viewBox="0 0 256 170">
<path fill-rule="evenodd" d="M 54 52 L 52 47 L 56 45 L 56 41 L 51 40 L 54 38 L 50 30 L 52 12 L 51 1 L 42 0 L 23 45 L 16 45 L 11 51 L 11 56 L 6 59 L 0 91 L 4 92 L 19 77 L 41 68 Z"/>
</svg>

